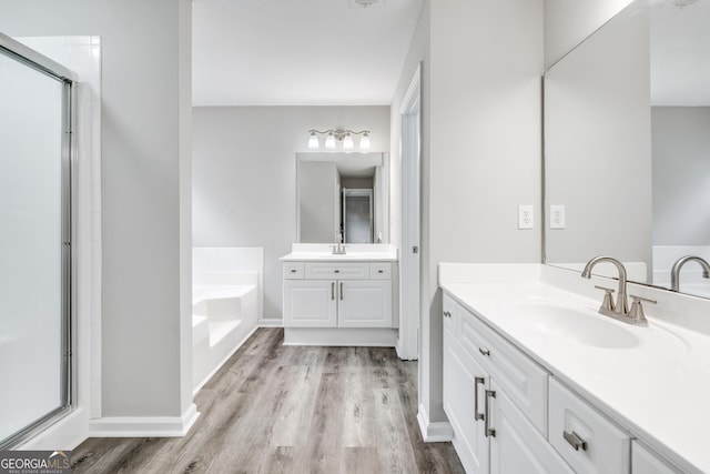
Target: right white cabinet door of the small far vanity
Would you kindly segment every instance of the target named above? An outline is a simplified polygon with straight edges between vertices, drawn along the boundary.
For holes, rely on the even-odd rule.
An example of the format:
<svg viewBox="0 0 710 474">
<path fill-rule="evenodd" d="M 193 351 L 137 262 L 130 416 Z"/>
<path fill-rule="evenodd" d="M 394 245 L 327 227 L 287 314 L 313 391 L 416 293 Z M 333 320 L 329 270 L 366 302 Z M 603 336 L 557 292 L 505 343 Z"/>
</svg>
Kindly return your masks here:
<svg viewBox="0 0 710 474">
<path fill-rule="evenodd" d="M 337 286 L 339 327 L 392 326 L 392 282 L 338 281 Z"/>
</svg>

